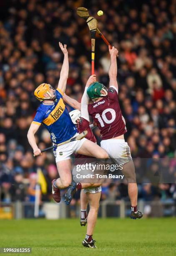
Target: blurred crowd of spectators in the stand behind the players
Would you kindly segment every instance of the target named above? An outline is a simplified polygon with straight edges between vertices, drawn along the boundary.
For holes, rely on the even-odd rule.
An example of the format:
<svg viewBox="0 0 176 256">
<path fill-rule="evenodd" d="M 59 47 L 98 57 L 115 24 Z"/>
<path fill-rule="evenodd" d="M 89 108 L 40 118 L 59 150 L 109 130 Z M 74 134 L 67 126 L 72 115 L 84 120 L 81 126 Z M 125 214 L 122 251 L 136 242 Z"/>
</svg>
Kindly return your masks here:
<svg viewBox="0 0 176 256">
<path fill-rule="evenodd" d="M 146 217 L 176 215 L 176 0 L 6 0 L 0 1 L 0 218 L 33 218 L 37 170 L 44 175 L 39 216 L 79 216 L 79 193 L 69 207 L 50 203 L 55 158 L 52 151 L 34 158 L 27 132 L 40 104 L 33 91 L 43 82 L 57 87 L 59 41 L 69 54 L 66 94 L 81 100 L 91 75 L 91 40 L 76 14 L 80 6 L 118 48 L 119 101 L 132 157 L 172 159 L 165 166 L 172 183 L 138 184 L 140 210 Z M 105 85 L 109 66 L 108 48 L 97 35 L 95 69 Z M 98 128 L 95 135 L 100 143 Z M 42 125 L 36 140 L 40 149 L 51 145 Z M 129 212 L 127 184 L 103 184 L 99 216 Z"/>
</svg>

